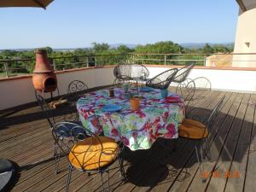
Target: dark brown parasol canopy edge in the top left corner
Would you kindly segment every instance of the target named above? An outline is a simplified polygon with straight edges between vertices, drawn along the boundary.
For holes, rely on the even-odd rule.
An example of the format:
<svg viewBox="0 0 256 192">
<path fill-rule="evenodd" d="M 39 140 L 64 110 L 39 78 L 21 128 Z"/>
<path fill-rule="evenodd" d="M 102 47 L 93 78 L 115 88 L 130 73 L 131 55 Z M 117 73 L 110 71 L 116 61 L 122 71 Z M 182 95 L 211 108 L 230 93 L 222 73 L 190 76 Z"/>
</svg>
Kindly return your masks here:
<svg viewBox="0 0 256 192">
<path fill-rule="evenodd" d="M 0 7 L 38 7 L 46 9 L 54 0 L 0 0 Z"/>
</svg>

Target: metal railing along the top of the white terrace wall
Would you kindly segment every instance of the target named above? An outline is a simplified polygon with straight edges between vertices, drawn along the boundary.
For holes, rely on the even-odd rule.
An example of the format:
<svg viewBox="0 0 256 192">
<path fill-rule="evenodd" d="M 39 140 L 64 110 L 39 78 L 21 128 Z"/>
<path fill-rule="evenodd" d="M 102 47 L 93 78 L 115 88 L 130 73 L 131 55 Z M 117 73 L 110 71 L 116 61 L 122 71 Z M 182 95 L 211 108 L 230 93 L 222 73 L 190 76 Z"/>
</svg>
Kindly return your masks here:
<svg viewBox="0 0 256 192">
<path fill-rule="evenodd" d="M 187 65 L 195 62 L 197 66 L 224 66 L 249 63 L 256 67 L 256 53 L 229 54 L 127 54 L 127 55 L 73 55 L 49 57 L 55 70 L 67 70 L 80 67 L 101 67 L 121 63 L 154 64 L 154 65 Z M 254 64 L 255 63 L 255 64 Z M 253 64 L 253 65 L 252 65 Z M 31 74 L 35 59 L 0 60 L 0 78 Z"/>
</svg>

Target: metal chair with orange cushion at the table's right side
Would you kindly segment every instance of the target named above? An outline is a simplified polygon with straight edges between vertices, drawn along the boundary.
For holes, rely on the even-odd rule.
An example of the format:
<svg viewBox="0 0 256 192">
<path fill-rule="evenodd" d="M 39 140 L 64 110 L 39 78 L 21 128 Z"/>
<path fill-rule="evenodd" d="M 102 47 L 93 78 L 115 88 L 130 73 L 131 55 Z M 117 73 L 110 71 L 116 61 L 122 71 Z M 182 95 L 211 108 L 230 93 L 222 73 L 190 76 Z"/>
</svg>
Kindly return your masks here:
<svg viewBox="0 0 256 192">
<path fill-rule="evenodd" d="M 223 105 L 225 96 L 223 96 L 220 101 L 217 103 L 217 105 L 212 109 L 212 113 L 205 118 L 206 120 L 203 120 L 203 123 L 201 123 L 198 120 L 193 119 L 193 116 L 191 117 L 192 119 L 183 119 L 183 122 L 181 125 L 178 127 L 178 137 L 183 137 L 191 140 L 198 140 L 200 143 L 195 145 L 195 153 L 196 153 L 196 158 L 198 160 L 199 168 L 201 174 L 203 173 L 203 167 L 201 169 L 201 164 L 202 161 L 205 159 L 207 153 L 209 152 L 209 142 L 208 142 L 208 136 L 209 136 L 209 129 L 212 126 L 212 123 L 216 116 L 218 115 L 220 108 Z M 194 115 L 197 119 L 198 115 Z M 201 147 L 201 141 L 205 140 L 206 143 L 206 149 L 205 149 L 205 154 L 203 155 L 203 148 Z M 198 148 L 201 151 L 201 158 L 198 153 Z"/>
</svg>

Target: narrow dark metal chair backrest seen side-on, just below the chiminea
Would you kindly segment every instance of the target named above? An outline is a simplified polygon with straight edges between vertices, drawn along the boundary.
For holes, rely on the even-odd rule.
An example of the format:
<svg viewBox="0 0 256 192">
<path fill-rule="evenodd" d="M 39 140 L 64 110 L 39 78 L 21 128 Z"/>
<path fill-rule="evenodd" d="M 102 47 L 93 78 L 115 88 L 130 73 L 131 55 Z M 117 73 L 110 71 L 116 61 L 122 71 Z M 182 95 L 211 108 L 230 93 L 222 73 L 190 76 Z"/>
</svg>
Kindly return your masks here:
<svg viewBox="0 0 256 192">
<path fill-rule="evenodd" d="M 44 97 L 40 96 L 37 90 L 35 90 L 35 96 L 37 98 L 38 105 L 40 106 L 40 108 L 44 112 L 45 118 L 49 122 L 49 126 L 52 127 L 53 125 L 55 125 L 55 118 L 54 118 L 54 115 L 52 113 L 52 110 L 49 108 L 48 103 L 45 102 Z"/>
</svg>

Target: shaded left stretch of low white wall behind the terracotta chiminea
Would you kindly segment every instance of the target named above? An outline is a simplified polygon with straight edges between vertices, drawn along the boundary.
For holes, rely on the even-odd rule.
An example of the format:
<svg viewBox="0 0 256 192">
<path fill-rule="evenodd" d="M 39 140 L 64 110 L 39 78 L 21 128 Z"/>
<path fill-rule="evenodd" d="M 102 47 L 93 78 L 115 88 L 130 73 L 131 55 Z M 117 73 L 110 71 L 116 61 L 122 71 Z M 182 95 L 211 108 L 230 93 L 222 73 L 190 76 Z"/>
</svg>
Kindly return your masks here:
<svg viewBox="0 0 256 192">
<path fill-rule="evenodd" d="M 88 88 L 112 84 L 113 67 L 57 73 L 61 95 L 67 93 L 67 86 L 74 79 L 83 81 Z M 36 101 L 32 77 L 0 80 L 0 90 L 0 110 Z M 49 94 L 46 95 L 49 97 Z"/>
</svg>

